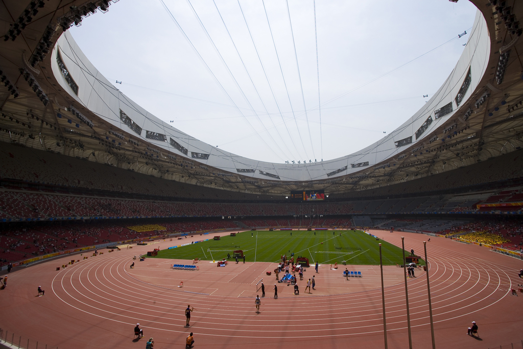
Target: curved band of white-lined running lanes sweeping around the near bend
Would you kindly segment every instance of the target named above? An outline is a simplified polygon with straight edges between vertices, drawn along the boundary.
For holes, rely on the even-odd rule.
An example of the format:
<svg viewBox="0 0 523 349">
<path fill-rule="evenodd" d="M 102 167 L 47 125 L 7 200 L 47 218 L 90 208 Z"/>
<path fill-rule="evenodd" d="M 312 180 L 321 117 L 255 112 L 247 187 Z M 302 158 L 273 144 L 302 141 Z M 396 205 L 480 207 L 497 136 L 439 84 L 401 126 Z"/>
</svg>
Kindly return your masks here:
<svg viewBox="0 0 523 349">
<path fill-rule="evenodd" d="M 435 300 L 433 304 L 436 306 L 433 309 L 435 322 L 460 318 L 485 309 L 508 294 L 508 289 L 504 295 L 498 292 L 502 285 L 511 284 L 510 277 L 502 270 L 501 265 L 487 264 L 479 258 L 465 255 L 461 256 L 459 260 L 450 259 L 447 251 L 442 251 L 446 249 L 430 248 L 430 250 L 431 255 L 433 255 L 430 257 L 429 272 L 431 290 L 434 294 L 433 300 Z M 248 302 L 237 299 L 234 305 L 224 307 L 223 302 L 228 297 L 213 296 L 215 299 L 211 299 L 209 296 L 183 294 L 173 290 L 160 289 L 155 285 L 147 285 L 141 280 L 131 278 L 126 268 L 127 261 L 127 259 L 117 257 L 97 258 L 97 260 L 85 261 L 87 263 L 81 265 L 74 265 L 74 267 L 64 269 L 55 275 L 51 285 L 52 290 L 66 305 L 78 311 L 118 323 L 132 325 L 135 323 L 135 319 L 139 318 L 145 319 L 143 320 L 146 322 L 145 328 L 185 333 L 185 329 L 181 331 L 177 329 L 180 327 L 178 324 L 183 323 L 185 319 L 183 307 L 190 301 L 201 304 L 194 317 L 197 324 L 191 327 L 198 329 L 201 335 L 257 339 L 280 338 L 280 336 L 255 334 L 256 327 L 259 324 L 258 320 L 247 315 L 252 313 L 250 299 Z M 473 267 L 468 267 L 468 265 Z M 121 274 L 121 271 L 124 274 Z M 115 272 L 116 274 L 113 274 Z M 426 295 L 423 294 L 426 286 L 423 279 L 413 278 L 408 283 L 411 309 L 414 310 L 411 314 L 412 321 L 418 322 L 413 327 L 428 325 Z M 85 280 L 87 280 L 87 284 L 84 283 Z M 56 288 L 56 285 L 60 285 L 61 290 Z M 391 326 L 390 331 L 405 329 L 402 287 L 403 283 L 386 288 L 387 319 Z M 487 287 L 493 290 L 487 291 Z M 459 291 L 457 292 L 457 290 Z M 64 295 L 59 296 L 58 293 L 62 292 Z M 301 317 L 305 313 L 310 314 L 310 319 L 300 322 L 302 324 L 300 330 L 278 331 L 288 332 L 289 334 L 299 333 L 297 336 L 286 335 L 288 338 L 303 339 L 382 333 L 380 329 L 381 307 L 373 305 L 379 300 L 379 296 L 379 289 L 376 289 L 357 292 L 356 294 L 302 298 L 296 300 L 295 308 L 290 309 L 290 315 L 280 315 L 278 313 L 279 306 L 269 304 L 264 306 L 265 310 L 260 318 L 271 319 L 271 324 L 268 327 L 277 329 L 281 327 L 281 321 L 287 321 L 289 316 Z M 151 299 L 155 300 L 157 306 L 145 304 L 140 306 L 141 303 L 150 302 Z M 342 306 L 337 307 L 334 312 L 325 314 L 325 307 L 333 304 L 342 304 Z M 482 308 L 474 308 L 476 306 L 482 306 Z M 230 310 L 225 308 L 230 308 Z M 112 309 L 112 311 L 107 309 Z M 119 312 L 116 310 L 119 310 Z M 219 325 L 223 325 L 224 321 L 227 321 L 230 314 L 241 317 L 244 323 L 231 330 L 218 328 Z M 448 317 L 449 315 L 452 315 L 452 317 Z M 361 319 L 362 316 L 366 318 Z M 329 322 L 329 326 L 333 327 L 333 331 L 343 333 L 318 336 L 317 331 L 313 329 L 316 329 L 317 324 L 322 323 L 322 321 L 332 321 Z M 313 333 L 307 335 L 307 332 Z M 253 333 L 253 335 L 248 335 L 250 333 Z"/>
</svg>

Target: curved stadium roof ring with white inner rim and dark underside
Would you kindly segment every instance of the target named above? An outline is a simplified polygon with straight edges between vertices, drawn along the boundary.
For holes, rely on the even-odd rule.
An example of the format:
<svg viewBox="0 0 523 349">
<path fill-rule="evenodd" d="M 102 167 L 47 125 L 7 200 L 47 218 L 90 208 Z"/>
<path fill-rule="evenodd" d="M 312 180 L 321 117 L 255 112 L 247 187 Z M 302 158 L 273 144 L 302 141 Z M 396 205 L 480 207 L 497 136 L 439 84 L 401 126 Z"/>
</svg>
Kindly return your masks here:
<svg viewBox="0 0 523 349">
<path fill-rule="evenodd" d="M 520 149 L 523 137 L 518 55 L 523 9 L 513 8 L 515 0 L 472 3 L 479 12 L 461 58 L 414 116 L 356 153 L 318 163 L 276 164 L 190 137 L 101 76 L 88 52 L 84 55 L 67 31 L 62 34 L 75 21 L 89 20 L 85 17 L 93 10 L 108 10 L 111 2 L 3 2 L 0 137 L 166 179 L 271 195 L 364 190 L 453 170 Z"/>
</svg>

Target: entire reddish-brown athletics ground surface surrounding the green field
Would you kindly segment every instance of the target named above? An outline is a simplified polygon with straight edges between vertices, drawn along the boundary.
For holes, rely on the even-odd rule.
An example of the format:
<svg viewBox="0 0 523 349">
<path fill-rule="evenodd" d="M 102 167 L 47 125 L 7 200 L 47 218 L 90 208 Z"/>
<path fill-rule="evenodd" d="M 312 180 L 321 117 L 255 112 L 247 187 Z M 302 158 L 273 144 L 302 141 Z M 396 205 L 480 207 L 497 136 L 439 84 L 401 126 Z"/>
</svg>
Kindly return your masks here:
<svg viewBox="0 0 523 349">
<path fill-rule="evenodd" d="M 383 240 L 406 250 L 423 252 L 426 235 L 373 232 Z M 184 241 L 185 242 L 185 241 Z M 173 242 L 161 243 L 162 249 Z M 202 262 L 200 271 L 173 271 L 160 259 L 136 262 L 132 256 L 147 246 L 104 253 L 75 263 L 61 271 L 55 267 L 70 261 L 44 262 L 9 275 L 9 286 L 0 291 L 0 327 L 30 339 L 32 349 L 50 348 L 142 348 L 154 337 L 155 349 L 184 347 L 185 337 L 194 332 L 195 347 L 222 348 L 380 348 L 384 346 L 381 289 L 378 273 L 369 269 L 361 279 L 343 279 L 320 269 L 317 290 L 300 296 L 291 287 L 278 284 L 279 299 L 273 299 L 271 277 L 267 297 L 255 312 L 254 297 L 260 275 L 269 263 L 247 263 L 215 268 Z M 104 251 L 105 252 L 105 251 Z M 488 348 L 521 340 L 523 295 L 510 289 L 523 283 L 517 275 L 523 261 L 491 252 L 485 247 L 462 244 L 444 238 L 427 243 L 430 291 L 434 313 L 436 347 Z M 75 256 L 76 259 L 79 256 Z M 81 259 L 81 258 L 80 258 Z M 187 263 L 187 262 L 185 262 Z M 189 264 L 191 262 L 188 262 Z M 352 269 L 358 269 L 355 267 Z M 351 269 L 349 267 L 349 269 Z M 377 268 L 379 271 L 379 268 Z M 400 274 L 398 274 L 400 273 Z M 401 269 L 384 267 L 386 324 L 389 348 L 407 348 L 405 288 Z M 401 275 L 401 278 L 394 277 Z M 312 276 L 312 268 L 306 272 Z M 306 278 L 305 277 L 305 278 Z M 184 287 L 178 288 L 183 279 Z M 399 281 L 399 282 L 398 282 Z M 42 286 L 46 295 L 36 297 Z M 345 286 L 344 286 L 345 285 Z M 354 285 L 358 285 L 355 287 Z M 354 291 L 360 287 L 364 290 Z M 412 342 L 414 348 L 431 347 L 426 274 L 417 271 L 408 279 Z M 191 326 L 185 328 L 184 309 L 194 306 Z M 466 334 L 471 321 L 479 325 L 481 340 Z M 133 327 L 140 322 L 145 339 L 133 341 Z"/>
</svg>

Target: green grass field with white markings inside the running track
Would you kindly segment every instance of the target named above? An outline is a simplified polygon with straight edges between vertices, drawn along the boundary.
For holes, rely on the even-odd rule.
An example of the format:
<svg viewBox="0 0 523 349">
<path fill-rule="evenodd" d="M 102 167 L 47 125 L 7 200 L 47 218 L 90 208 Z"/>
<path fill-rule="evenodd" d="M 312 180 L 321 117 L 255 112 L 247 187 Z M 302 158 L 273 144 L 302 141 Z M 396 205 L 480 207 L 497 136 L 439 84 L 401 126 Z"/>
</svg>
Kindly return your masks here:
<svg viewBox="0 0 523 349">
<path fill-rule="evenodd" d="M 237 233 L 235 237 L 225 236 L 221 240 L 212 240 L 212 234 L 202 235 L 209 241 L 198 242 L 192 245 L 163 250 L 156 257 L 192 260 L 221 260 L 234 250 L 243 250 L 247 262 L 279 262 L 280 256 L 294 258 L 303 256 L 309 258 L 309 263 L 320 264 L 347 264 L 379 265 L 381 252 L 383 265 L 403 264 L 403 255 L 400 248 L 376 238 L 362 231 L 245 231 Z M 340 235 L 341 234 L 341 235 Z M 184 240 L 173 240 L 173 246 L 184 243 Z M 405 256 L 408 253 L 405 252 Z M 423 261 L 419 261 L 424 264 Z"/>
</svg>

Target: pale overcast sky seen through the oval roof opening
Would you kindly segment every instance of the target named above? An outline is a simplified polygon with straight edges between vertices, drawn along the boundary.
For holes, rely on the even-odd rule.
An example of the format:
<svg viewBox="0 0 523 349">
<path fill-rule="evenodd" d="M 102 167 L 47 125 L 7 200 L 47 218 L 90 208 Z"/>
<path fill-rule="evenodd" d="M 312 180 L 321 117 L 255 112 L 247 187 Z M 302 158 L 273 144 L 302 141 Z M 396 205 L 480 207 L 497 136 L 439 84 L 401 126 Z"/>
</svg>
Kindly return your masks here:
<svg viewBox="0 0 523 349">
<path fill-rule="evenodd" d="M 70 31 L 151 114 L 284 163 L 336 159 L 400 126 L 448 77 L 475 14 L 467 0 L 123 0 Z"/>
</svg>

